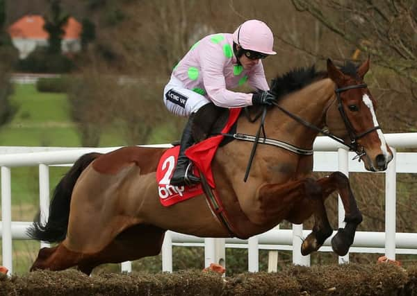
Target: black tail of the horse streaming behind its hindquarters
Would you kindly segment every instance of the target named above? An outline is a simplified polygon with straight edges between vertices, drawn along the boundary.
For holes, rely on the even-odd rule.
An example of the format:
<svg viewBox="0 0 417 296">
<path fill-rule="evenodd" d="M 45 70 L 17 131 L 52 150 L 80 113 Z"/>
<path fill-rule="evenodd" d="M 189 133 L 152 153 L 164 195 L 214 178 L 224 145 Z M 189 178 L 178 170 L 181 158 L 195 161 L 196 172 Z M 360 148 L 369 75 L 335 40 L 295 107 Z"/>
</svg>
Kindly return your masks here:
<svg viewBox="0 0 417 296">
<path fill-rule="evenodd" d="M 51 205 L 49 207 L 49 218 L 46 225 L 40 223 L 40 213 L 35 217 L 33 224 L 28 228 L 27 234 L 38 241 L 49 243 L 63 241 L 67 234 L 68 220 L 70 218 L 70 202 L 72 190 L 76 180 L 85 168 L 101 153 L 88 153 L 81 156 L 74 163 L 74 166 L 64 175 L 54 190 Z"/>
</svg>

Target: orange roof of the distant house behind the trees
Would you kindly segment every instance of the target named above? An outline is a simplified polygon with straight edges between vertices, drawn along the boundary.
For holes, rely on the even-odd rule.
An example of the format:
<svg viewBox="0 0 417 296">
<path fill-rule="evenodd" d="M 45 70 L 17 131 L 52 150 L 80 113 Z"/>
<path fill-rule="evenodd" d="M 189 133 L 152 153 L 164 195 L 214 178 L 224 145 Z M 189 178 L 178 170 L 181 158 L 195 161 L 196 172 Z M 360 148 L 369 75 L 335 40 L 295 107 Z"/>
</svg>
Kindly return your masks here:
<svg viewBox="0 0 417 296">
<path fill-rule="evenodd" d="M 49 34 L 44 31 L 44 18 L 41 15 L 25 15 L 9 26 L 8 33 L 12 38 L 48 39 Z M 74 17 L 70 17 L 64 26 L 63 39 L 79 39 L 81 24 Z"/>
</svg>

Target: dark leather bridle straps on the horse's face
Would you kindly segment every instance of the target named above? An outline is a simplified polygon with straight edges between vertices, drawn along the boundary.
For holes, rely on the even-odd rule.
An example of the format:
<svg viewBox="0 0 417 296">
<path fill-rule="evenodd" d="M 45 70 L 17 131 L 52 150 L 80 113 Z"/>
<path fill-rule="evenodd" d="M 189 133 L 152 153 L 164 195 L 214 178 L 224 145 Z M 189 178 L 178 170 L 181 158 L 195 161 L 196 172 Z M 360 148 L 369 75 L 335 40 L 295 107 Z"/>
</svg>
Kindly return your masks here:
<svg viewBox="0 0 417 296">
<path fill-rule="evenodd" d="M 346 130 L 349 133 L 349 137 L 350 137 L 350 143 L 347 144 L 347 143 L 343 142 L 343 144 L 345 146 L 349 147 L 350 150 L 357 153 L 357 156 L 354 157 L 354 159 L 357 159 L 357 158 L 366 154 L 363 151 L 363 148 L 361 148 L 361 150 L 359 150 L 359 145 L 357 143 L 357 140 L 361 139 L 362 137 L 365 137 L 366 134 L 369 134 L 370 132 L 373 132 L 374 130 L 380 130 L 381 128 L 379 127 L 379 125 L 377 125 L 377 126 L 374 126 L 373 128 L 370 128 L 366 132 L 362 132 L 361 134 L 357 134 L 356 132 L 354 132 L 354 128 L 352 126 L 352 123 L 350 123 L 350 120 L 347 118 L 345 109 L 343 108 L 342 99 L 341 99 L 341 92 L 345 92 L 349 89 L 365 88 L 367 86 L 368 85 L 366 85 L 366 83 L 362 83 L 360 85 L 350 85 L 350 86 L 347 86 L 347 87 L 336 88 L 334 90 L 334 92 L 336 92 L 336 97 L 337 97 L 337 101 L 338 101 L 338 106 L 337 106 L 338 111 L 340 112 L 340 114 L 342 116 L 343 122 L 345 123 Z M 339 142 L 341 142 L 341 141 L 339 141 Z"/>
</svg>

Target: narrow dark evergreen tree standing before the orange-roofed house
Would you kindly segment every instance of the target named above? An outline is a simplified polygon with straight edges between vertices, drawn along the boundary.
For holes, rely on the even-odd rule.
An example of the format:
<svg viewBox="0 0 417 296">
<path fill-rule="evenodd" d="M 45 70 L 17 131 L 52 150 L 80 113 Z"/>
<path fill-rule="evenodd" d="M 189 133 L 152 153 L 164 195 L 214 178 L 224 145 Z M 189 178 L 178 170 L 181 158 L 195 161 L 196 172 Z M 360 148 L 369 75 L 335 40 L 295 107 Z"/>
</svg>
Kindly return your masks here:
<svg viewBox="0 0 417 296">
<path fill-rule="evenodd" d="M 51 54 L 61 53 L 61 43 L 65 33 L 63 26 L 67 24 L 70 15 L 63 13 L 60 8 L 60 0 L 49 0 L 50 14 L 44 16 L 44 30 L 49 33 L 48 52 Z"/>
</svg>

